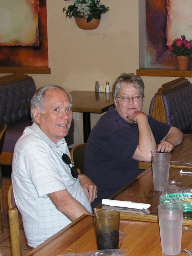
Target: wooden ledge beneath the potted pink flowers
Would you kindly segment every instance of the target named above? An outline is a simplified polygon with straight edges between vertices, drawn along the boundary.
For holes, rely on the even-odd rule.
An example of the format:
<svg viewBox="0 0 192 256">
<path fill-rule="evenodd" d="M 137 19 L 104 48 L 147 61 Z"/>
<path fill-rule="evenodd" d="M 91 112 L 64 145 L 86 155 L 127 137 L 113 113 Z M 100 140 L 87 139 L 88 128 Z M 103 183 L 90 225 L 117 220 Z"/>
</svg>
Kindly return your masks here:
<svg viewBox="0 0 192 256">
<path fill-rule="evenodd" d="M 141 68 L 137 69 L 137 76 L 174 76 L 174 77 L 192 77 L 192 69 L 160 69 L 160 68 Z"/>
</svg>

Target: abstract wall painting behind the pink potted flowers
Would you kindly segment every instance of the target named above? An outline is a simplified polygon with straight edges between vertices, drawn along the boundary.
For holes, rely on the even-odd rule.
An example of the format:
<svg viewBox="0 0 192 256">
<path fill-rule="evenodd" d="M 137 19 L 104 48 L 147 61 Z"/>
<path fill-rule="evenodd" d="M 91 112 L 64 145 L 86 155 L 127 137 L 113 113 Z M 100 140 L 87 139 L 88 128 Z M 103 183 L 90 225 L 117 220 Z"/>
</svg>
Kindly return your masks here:
<svg viewBox="0 0 192 256">
<path fill-rule="evenodd" d="M 191 17 L 192 0 L 146 0 L 146 68 L 177 68 L 168 45 L 181 35 L 192 39 Z"/>
</svg>

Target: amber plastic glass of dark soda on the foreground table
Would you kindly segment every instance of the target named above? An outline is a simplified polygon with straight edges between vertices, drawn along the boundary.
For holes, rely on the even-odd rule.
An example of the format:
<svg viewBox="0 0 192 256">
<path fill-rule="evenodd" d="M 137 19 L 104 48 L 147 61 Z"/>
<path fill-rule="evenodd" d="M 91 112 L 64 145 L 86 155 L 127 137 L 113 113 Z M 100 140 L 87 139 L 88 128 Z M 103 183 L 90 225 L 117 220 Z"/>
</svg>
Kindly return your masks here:
<svg viewBox="0 0 192 256">
<path fill-rule="evenodd" d="M 94 209 L 97 249 L 118 249 L 119 212 L 115 210 Z"/>
</svg>

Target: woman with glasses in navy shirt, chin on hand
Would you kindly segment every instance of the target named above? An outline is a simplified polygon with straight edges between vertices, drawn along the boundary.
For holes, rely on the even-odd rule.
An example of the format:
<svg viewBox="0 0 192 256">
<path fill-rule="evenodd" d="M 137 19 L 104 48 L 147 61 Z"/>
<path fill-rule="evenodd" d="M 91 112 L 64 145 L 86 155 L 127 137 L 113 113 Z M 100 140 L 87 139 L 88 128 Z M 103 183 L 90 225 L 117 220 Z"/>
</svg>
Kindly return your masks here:
<svg viewBox="0 0 192 256">
<path fill-rule="evenodd" d="M 114 84 L 115 106 L 93 127 L 86 145 L 84 174 L 98 187 L 92 208 L 137 177 L 139 161 L 150 162 L 152 151 L 170 152 L 182 142 L 179 129 L 142 112 L 143 100 L 140 76 L 122 73 Z"/>
</svg>

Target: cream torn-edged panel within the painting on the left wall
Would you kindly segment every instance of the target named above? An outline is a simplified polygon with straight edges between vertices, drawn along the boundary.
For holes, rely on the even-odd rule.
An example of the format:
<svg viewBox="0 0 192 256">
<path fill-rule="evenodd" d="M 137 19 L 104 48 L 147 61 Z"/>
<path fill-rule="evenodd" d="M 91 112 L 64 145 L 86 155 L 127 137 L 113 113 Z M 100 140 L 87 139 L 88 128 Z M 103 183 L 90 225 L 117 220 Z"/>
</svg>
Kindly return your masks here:
<svg viewBox="0 0 192 256">
<path fill-rule="evenodd" d="M 38 0 L 3 1 L 0 8 L 0 46 L 39 45 L 38 11 Z"/>
</svg>

